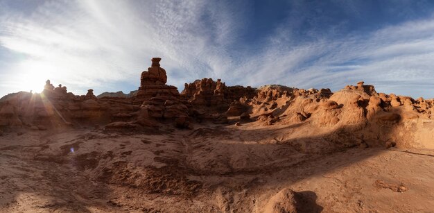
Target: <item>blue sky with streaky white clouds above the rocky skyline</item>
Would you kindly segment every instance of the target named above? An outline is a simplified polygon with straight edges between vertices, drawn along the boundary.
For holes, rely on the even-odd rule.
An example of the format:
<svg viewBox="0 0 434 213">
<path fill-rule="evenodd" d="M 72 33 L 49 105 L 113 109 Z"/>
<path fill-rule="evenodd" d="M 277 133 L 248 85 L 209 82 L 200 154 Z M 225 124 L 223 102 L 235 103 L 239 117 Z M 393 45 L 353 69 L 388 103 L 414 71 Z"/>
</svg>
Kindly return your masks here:
<svg viewBox="0 0 434 213">
<path fill-rule="evenodd" d="M 434 1 L 0 0 L 0 96 L 137 90 L 150 58 L 168 84 L 378 92 L 434 98 Z"/>
</svg>

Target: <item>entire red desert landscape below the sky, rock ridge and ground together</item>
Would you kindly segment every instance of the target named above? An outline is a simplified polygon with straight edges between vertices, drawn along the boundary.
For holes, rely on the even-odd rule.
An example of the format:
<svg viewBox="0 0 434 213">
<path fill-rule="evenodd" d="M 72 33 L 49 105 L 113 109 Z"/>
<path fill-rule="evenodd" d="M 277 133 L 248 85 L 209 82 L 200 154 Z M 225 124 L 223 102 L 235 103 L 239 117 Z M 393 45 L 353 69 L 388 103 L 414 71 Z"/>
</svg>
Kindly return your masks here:
<svg viewBox="0 0 434 213">
<path fill-rule="evenodd" d="M 0 212 L 434 212 L 434 99 L 167 85 L 0 99 Z M 146 65 L 144 65 L 146 66 Z"/>
</svg>

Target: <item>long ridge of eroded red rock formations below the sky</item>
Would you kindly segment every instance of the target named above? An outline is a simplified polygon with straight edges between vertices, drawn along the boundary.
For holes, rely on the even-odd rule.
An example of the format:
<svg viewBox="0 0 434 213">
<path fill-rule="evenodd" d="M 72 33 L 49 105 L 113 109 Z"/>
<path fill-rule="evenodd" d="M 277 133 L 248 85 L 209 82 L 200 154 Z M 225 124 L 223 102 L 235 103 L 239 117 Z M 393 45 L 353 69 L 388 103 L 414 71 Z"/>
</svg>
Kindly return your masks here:
<svg viewBox="0 0 434 213">
<path fill-rule="evenodd" d="M 54 87 L 50 80 L 41 94 L 9 94 L 0 101 L 0 126 L 51 128 L 112 123 L 107 127 L 135 129 L 159 123 L 192 128 L 202 121 L 239 122 L 239 126 L 248 122 L 303 124 L 333 133 L 330 140 L 345 137 L 345 146 L 383 146 L 389 141 L 407 147 L 414 146 L 408 141 L 415 138 L 428 144 L 434 137 L 427 129 L 433 126 L 433 99 L 377 93 L 374 86 L 363 81 L 333 93 L 327 88 L 227 86 L 220 79 L 202 78 L 186 83 L 180 94 L 176 87 L 166 85 L 167 75 L 160 60 L 153 58 L 148 71 L 141 73 L 135 96 L 98 98 L 92 89 L 78 96 L 62 85 Z"/>
</svg>

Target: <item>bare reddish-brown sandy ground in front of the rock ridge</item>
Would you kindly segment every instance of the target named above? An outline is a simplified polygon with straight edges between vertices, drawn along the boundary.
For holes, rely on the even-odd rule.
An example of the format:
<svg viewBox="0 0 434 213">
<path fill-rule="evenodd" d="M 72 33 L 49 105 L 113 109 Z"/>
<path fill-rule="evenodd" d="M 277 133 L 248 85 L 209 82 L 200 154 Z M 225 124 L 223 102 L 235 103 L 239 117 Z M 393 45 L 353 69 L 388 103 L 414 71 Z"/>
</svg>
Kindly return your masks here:
<svg viewBox="0 0 434 213">
<path fill-rule="evenodd" d="M 8 130 L 0 212 L 434 212 L 434 151 L 347 147 L 308 126 Z"/>
</svg>

